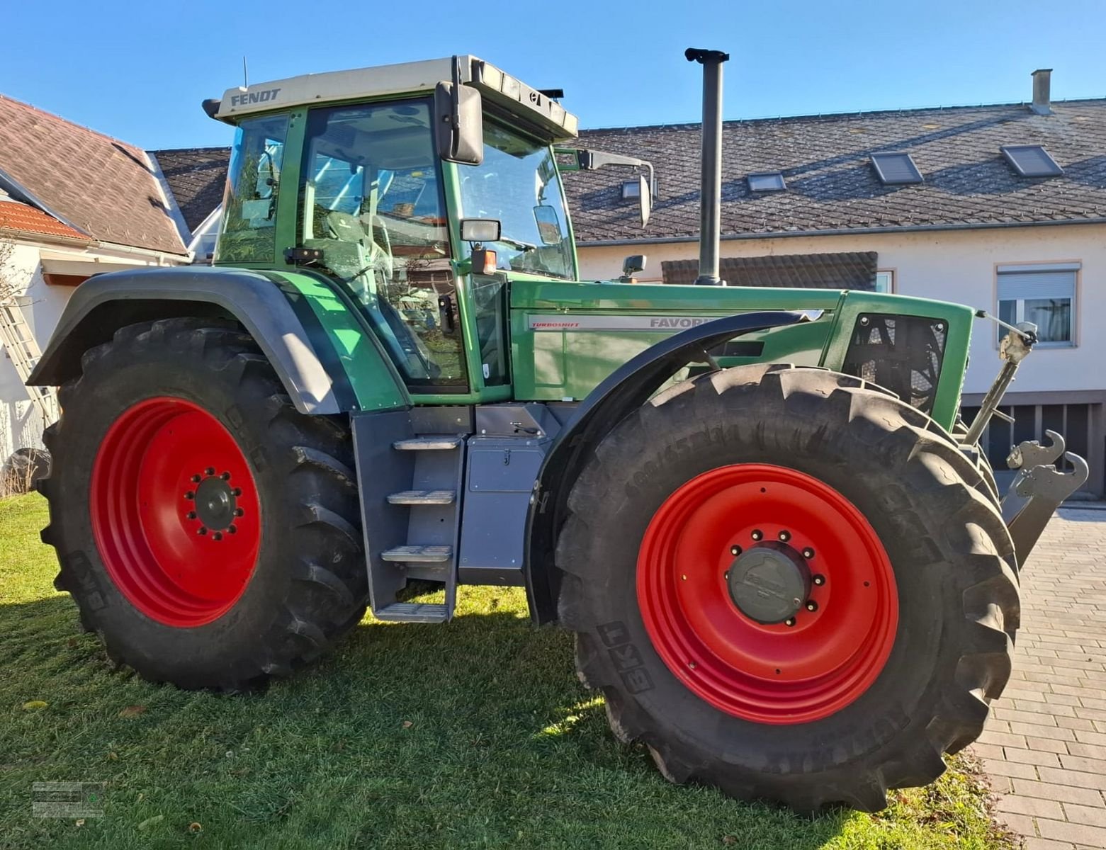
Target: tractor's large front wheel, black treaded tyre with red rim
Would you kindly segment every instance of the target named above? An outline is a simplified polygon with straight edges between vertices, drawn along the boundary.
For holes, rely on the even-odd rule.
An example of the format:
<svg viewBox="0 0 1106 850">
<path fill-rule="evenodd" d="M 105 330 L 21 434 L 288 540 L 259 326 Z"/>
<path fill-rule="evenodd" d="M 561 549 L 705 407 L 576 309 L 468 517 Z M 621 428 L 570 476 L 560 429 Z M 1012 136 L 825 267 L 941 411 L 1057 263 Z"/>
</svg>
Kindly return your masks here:
<svg viewBox="0 0 1106 850">
<path fill-rule="evenodd" d="M 762 365 L 680 384 L 605 437 L 570 495 L 556 564 L 581 680 L 672 781 L 880 809 L 974 741 L 1009 679 L 1013 546 L 987 491 L 928 417 L 857 378 Z M 726 596 L 731 543 L 769 537 L 816 550 L 808 598 L 831 591 L 794 627 Z"/>
</svg>

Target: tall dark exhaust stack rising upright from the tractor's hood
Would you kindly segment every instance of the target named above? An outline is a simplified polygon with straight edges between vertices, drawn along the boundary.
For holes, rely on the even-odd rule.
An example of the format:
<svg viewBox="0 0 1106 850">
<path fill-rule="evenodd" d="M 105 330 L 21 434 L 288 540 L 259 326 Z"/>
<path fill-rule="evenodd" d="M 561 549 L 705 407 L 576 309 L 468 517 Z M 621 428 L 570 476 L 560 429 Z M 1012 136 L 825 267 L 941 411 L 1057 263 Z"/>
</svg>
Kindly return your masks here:
<svg viewBox="0 0 1106 850">
<path fill-rule="evenodd" d="M 688 62 L 702 65 L 702 181 L 699 188 L 699 276 L 696 284 L 718 286 L 718 253 L 722 229 L 722 63 L 720 50 L 688 48 Z"/>
</svg>

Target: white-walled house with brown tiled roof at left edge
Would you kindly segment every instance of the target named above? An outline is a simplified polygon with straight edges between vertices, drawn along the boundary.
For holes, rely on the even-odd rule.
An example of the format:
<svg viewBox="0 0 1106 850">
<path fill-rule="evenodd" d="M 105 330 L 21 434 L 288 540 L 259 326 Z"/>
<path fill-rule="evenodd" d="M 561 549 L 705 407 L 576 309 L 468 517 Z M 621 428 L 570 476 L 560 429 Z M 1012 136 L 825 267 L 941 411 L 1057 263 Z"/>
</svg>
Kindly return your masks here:
<svg viewBox="0 0 1106 850">
<path fill-rule="evenodd" d="M 73 287 L 100 272 L 187 263 L 186 237 L 146 151 L 0 95 L 0 463 L 41 447 L 49 414 L 21 370 Z M 13 350 L 23 337 L 30 348 Z"/>
</svg>

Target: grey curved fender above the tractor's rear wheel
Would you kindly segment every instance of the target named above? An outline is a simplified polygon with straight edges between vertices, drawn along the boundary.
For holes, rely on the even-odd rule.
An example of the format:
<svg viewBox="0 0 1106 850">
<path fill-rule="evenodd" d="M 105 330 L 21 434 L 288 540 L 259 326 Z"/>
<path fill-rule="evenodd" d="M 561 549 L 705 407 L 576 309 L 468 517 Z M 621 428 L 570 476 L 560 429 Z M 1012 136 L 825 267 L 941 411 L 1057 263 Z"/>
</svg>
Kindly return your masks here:
<svg viewBox="0 0 1106 850">
<path fill-rule="evenodd" d="M 96 275 L 73 293 L 29 385 L 61 386 L 81 355 L 121 327 L 176 316 L 237 319 L 302 413 L 340 413 L 356 399 L 310 305 L 291 287 L 244 269 L 179 266 Z"/>
</svg>

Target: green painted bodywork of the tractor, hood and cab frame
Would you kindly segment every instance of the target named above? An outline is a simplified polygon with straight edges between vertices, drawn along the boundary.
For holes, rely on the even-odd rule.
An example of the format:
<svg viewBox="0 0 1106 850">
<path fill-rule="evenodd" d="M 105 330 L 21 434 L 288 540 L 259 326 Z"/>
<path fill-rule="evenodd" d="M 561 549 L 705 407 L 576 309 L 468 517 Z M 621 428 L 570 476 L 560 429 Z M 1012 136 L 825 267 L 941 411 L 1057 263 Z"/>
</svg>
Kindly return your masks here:
<svg viewBox="0 0 1106 850">
<path fill-rule="evenodd" d="M 581 400 L 629 358 L 687 325 L 734 313 L 786 309 L 808 311 L 812 321 L 742 337 L 742 343 L 763 345 L 745 345 L 737 354 L 722 357 L 720 364 L 793 363 L 841 370 L 853 328 L 862 314 L 940 319 L 947 323 L 948 333 L 931 414 L 945 428 L 951 428 L 956 419 L 967 367 L 972 311 L 943 302 L 857 291 L 572 282 L 533 273 L 498 271 L 494 276 L 508 292 L 508 307 L 501 321 L 509 338 L 509 376 L 505 382 L 486 386 L 481 353 L 474 342 L 477 309 L 472 293 L 477 279 L 472 274 L 470 246 L 461 241 L 459 232 L 460 169 L 467 166 L 447 161 L 438 166 L 448 212 L 453 258 L 450 265 L 468 384 L 441 392 L 434 388 L 428 391 L 426 387 L 416 391 L 404 385 L 386 347 L 374 338 L 373 329 L 343 292 L 344 284 L 328 277 L 325 270 L 296 270 L 283 256 L 285 248 L 298 244 L 299 193 L 294 187 L 300 181 L 309 123 L 306 109 L 291 111 L 288 116 L 280 175 L 282 189 L 274 200 L 275 223 L 269 237 L 275 238 L 273 255 L 242 262 L 241 255 L 228 258 L 225 243 L 220 242 L 215 262 L 268 270 L 291 298 L 310 305 L 345 370 L 345 380 L 356 398 L 356 409 Z M 568 221 L 564 222 L 564 239 L 574 244 Z M 227 244 L 232 242 L 228 240 Z M 578 269 L 574 248 L 572 262 L 573 269 Z M 658 318 L 669 321 L 654 321 Z M 573 327 L 574 324 L 580 326 Z"/>
</svg>

